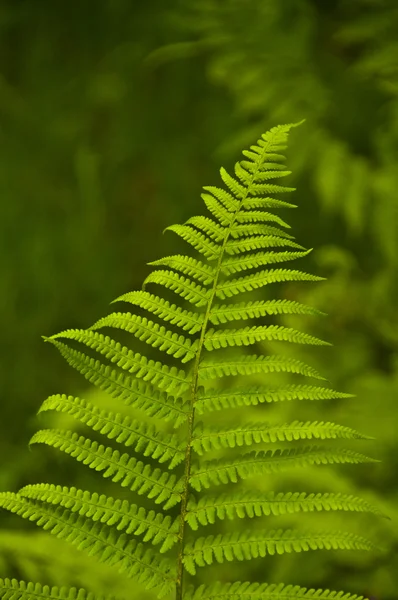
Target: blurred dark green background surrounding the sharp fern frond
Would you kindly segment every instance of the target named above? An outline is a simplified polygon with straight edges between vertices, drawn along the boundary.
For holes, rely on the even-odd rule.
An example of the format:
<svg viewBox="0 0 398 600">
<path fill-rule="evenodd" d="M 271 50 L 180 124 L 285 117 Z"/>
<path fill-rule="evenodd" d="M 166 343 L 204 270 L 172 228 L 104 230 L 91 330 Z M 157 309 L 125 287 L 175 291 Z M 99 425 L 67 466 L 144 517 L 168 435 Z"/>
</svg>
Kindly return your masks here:
<svg viewBox="0 0 398 600">
<path fill-rule="evenodd" d="M 183 249 L 161 233 L 203 214 L 201 186 L 219 184 L 219 167 L 270 127 L 302 118 L 287 163 L 299 208 L 283 217 L 315 249 L 297 268 L 328 280 L 278 292 L 329 314 L 312 327 L 334 346 L 310 349 L 307 361 L 357 398 L 327 414 L 319 405 L 283 407 L 279 419 L 308 413 L 354 426 L 377 438 L 363 448 L 382 463 L 297 472 L 291 481 L 364 495 L 392 521 L 380 531 L 362 521 L 375 528 L 379 554 L 278 557 L 239 564 L 234 575 L 393 600 L 396 0 L 0 2 L 0 489 L 48 481 L 115 494 L 56 451 L 28 451 L 46 396 L 92 394 L 41 335 L 87 327 L 140 288 L 148 261 Z M 103 567 L 84 566 L 33 525 L 5 513 L 0 525 L 1 577 L 125 593 Z"/>
</svg>

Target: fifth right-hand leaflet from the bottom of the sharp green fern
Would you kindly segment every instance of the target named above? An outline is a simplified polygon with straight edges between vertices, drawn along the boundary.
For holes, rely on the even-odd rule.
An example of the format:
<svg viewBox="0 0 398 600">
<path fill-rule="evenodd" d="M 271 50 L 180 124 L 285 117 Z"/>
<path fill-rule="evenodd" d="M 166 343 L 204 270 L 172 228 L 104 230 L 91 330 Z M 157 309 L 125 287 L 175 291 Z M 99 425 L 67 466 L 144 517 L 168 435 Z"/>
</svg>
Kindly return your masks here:
<svg viewBox="0 0 398 600">
<path fill-rule="evenodd" d="M 211 450 L 235 448 L 236 446 L 251 446 L 252 444 L 292 442 L 295 440 L 331 440 L 331 439 L 374 439 L 350 427 L 323 421 L 300 423 L 293 421 L 284 425 L 269 425 L 268 423 L 247 423 L 235 428 L 210 429 L 198 423 L 192 438 L 193 450 L 202 455 Z"/>
</svg>

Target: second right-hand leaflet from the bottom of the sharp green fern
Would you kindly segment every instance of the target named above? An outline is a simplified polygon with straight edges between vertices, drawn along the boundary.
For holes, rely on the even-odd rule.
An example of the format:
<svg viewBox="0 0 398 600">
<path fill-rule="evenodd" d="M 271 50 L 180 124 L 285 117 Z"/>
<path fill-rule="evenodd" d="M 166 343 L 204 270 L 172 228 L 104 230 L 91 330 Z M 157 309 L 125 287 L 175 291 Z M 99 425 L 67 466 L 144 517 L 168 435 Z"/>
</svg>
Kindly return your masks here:
<svg viewBox="0 0 398 600">
<path fill-rule="evenodd" d="M 308 550 L 373 550 L 375 545 L 366 538 L 353 533 L 301 532 L 291 529 L 270 531 L 244 531 L 217 536 L 200 537 L 188 542 L 184 553 L 184 567 L 191 575 L 196 566 L 211 565 L 233 560 L 251 560 L 267 555 Z"/>
</svg>

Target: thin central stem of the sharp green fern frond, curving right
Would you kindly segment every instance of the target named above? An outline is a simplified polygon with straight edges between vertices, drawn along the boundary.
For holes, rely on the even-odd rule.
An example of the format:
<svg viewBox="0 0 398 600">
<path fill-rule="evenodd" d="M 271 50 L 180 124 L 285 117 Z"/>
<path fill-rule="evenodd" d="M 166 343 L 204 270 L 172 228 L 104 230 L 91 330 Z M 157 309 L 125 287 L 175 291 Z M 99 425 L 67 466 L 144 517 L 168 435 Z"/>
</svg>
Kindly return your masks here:
<svg viewBox="0 0 398 600">
<path fill-rule="evenodd" d="M 184 533 L 185 533 L 185 515 L 187 513 L 187 504 L 188 504 L 188 496 L 189 496 L 189 477 L 191 473 L 191 456 L 192 456 L 192 438 L 193 438 L 193 429 L 194 429 L 194 421 L 195 421 L 195 402 L 197 400 L 197 390 L 198 390 L 198 379 L 199 379 L 199 364 L 202 358 L 202 351 L 204 347 L 204 340 L 206 335 L 207 326 L 209 323 L 210 311 L 213 305 L 214 297 L 217 291 L 218 280 L 221 274 L 221 264 L 224 258 L 225 246 L 228 242 L 230 232 L 232 227 L 235 224 L 237 215 L 239 214 L 243 202 L 246 200 L 247 195 L 250 191 L 250 186 L 256 178 L 256 174 L 258 171 L 258 167 L 261 165 L 264 155 L 267 153 L 268 144 L 264 146 L 262 154 L 259 156 L 257 168 L 253 171 L 252 177 L 250 179 L 250 183 L 246 188 L 246 193 L 242 197 L 239 206 L 235 211 L 234 218 L 231 220 L 231 223 L 226 232 L 223 244 L 220 249 L 220 255 L 217 262 L 217 267 L 214 274 L 214 283 L 213 288 L 209 297 L 209 301 L 206 307 L 206 313 L 202 324 L 202 329 L 200 332 L 200 339 L 198 344 L 198 349 L 196 352 L 195 362 L 193 366 L 192 373 L 192 383 L 191 383 L 191 412 L 188 417 L 189 429 L 188 429 L 188 440 L 187 440 L 187 449 L 185 453 L 185 473 L 184 473 L 184 490 L 181 498 L 181 521 L 180 521 L 180 529 L 178 532 L 178 540 L 179 540 L 179 549 L 178 549 L 178 557 L 177 557 L 177 581 L 176 581 L 176 596 L 175 600 L 182 600 L 183 597 L 183 556 L 184 556 Z"/>
</svg>

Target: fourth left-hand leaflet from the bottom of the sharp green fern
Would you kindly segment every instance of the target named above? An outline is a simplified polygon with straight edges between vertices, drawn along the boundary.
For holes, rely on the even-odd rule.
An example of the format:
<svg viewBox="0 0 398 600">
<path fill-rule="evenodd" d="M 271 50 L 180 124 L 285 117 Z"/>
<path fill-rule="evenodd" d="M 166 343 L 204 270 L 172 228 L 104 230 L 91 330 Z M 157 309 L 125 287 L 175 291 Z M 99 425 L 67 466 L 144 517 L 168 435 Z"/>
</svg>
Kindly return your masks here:
<svg viewBox="0 0 398 600">
<path fill-rule="evenodd" d="M 122 487 L 129 487 L 137 494 L 146 494 L 154 498 L 156 504 L 166 502 L 170 508 L 180 501 L 182 481 L 175 475 L 152 469 L 129 454 L 120 454 L 118 450 L 98 444 L 78 433 L 59 429 L 43 429 L 37 431 L 29 444 L 47 444 L 70 454 L 77 461 L 83 462 L 90 469 L 102 471 L 103 477 L 111 477 Z"/>
</svg>

